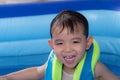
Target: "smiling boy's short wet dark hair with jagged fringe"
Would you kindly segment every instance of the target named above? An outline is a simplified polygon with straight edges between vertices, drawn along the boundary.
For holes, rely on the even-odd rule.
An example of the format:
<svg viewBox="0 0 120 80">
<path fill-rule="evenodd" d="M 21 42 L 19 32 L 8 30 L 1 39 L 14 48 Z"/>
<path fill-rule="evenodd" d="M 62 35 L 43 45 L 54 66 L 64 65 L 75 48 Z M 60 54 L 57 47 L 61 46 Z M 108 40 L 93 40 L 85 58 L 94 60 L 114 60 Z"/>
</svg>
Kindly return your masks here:
<svg viewBox="0 0 120 80">
<path fill-rule="evenodd" d="M 55 25 L 57 24 L 57 25 Z M 75 32 L 75 25 L 82 24 L 84 29 L 84 35 L 86 38 L 88 37 L 88 21 L 87 19 L 79 12 L 77 11 L 71 11 L 71 10 L 64 10 L 60 12 L 51 22 L 50 25 L 50 35 L 52 38 L 52 30 L 53 26 L 55 27 L 59 26 L 62 27 L 61 32 L 64 30 L 64 28 L 67 28 L 70 30 L 71 33 Z"/>
</svg>

